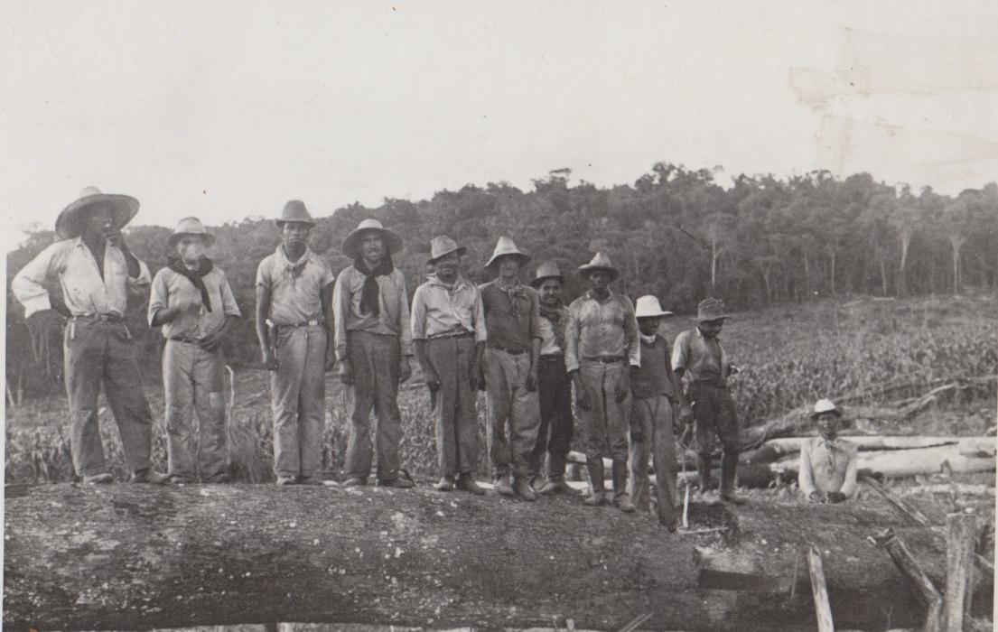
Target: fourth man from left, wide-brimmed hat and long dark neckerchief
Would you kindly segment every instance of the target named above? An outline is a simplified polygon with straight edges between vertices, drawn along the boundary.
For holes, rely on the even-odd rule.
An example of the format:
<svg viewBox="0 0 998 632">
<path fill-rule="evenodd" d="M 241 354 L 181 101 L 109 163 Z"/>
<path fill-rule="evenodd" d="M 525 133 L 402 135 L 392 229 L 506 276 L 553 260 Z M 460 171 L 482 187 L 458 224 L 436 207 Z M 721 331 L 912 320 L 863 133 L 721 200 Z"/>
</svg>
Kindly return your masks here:
<svg viewBox="0 0 998 632">
<path fill-rule="evenodd" d="M 353 265 L 339 273 L 332 292 L 339 378 L 353 390 L 350 438 L 346 446 L 346 485 L 363 485 L 371 469 L 370 415 L 377 414 L 377 484 L 412 487 L 399 469 L 402 415 L 398 384 L 411 374 L 412 329 L 405 275 L 391 256 L 402 238 L 377 220 L 364 220 L 343 240 Z M 401 472 L 401 475 L 399 475 Z"/>
</svg>

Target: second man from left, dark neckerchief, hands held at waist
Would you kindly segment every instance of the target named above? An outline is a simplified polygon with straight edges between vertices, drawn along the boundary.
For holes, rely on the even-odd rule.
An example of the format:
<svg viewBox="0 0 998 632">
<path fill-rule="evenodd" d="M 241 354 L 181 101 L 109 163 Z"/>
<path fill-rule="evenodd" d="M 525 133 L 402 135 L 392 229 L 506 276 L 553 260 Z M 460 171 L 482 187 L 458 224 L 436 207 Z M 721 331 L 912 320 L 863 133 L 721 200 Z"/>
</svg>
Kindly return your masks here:
<svg viewBox="0 0 998 632">
<path fill-rule="evenodd" d="M 167 338 L 163 349 L 167 473 L 174 483 L 199 478 L 224 482 L 228 430 L 222 342 L 241 316 L 240 309 L 226 273 L 206 256 L 215 236 L 201 220 L 181 220 L 169 243 L 176 255 L 156 274 L 149 299 L 149 324 L 162 326 Z"/>
</svg>

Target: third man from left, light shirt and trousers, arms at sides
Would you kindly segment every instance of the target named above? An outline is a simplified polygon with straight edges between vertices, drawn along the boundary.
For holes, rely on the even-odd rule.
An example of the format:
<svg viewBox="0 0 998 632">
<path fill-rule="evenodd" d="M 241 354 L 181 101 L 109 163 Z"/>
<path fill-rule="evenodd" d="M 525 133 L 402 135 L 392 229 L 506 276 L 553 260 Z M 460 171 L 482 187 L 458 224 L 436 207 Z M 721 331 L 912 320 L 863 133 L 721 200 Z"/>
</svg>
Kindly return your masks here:
<svg viewBox="0 0 998 632">
<path fill-rule="evenodd" d="M 275 221 L 280 244 L 256 269 L 256 336 L 270 371 L 278 485 L 321 484 L 325 371 L 333 349 L 329 265 L 307 246 L 315 225 L 300 200 Z"/>
</svg>

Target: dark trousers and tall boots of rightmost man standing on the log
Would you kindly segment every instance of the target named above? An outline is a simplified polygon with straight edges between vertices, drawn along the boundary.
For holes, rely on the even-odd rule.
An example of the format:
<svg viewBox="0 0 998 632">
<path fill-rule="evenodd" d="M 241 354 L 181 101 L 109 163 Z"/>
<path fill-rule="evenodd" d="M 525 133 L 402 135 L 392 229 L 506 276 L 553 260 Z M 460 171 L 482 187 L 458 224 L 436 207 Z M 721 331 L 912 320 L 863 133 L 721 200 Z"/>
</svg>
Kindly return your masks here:
<svg viewBox="0 0 998 632">
<path fill-rule="evenodd" d="M 697 470 L 704 484 L 710 478 L 711 455 L 721 441 L 721 490 L 735 489 L 735 476 L 742 449 L 742 435 L 735 401 L 728 386 L 721 383 L 693 382 L 687 391 L 693 405 L 697 441 Z"/>
</svg>

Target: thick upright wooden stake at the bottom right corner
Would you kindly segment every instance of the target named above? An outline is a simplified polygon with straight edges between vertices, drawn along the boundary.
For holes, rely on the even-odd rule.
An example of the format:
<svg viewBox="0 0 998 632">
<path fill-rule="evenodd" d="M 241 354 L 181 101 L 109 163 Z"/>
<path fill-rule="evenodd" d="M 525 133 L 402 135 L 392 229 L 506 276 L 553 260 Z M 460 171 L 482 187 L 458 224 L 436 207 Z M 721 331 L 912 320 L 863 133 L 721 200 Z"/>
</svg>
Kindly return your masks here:
<svg viewBox="0 0 998 632">
<path fill-rule="evenodd" d="M 946 630 L 959 632 L 970 616 L 974 596 L 974 540 L 977 516 L 946 516 Z"/>
</svg>

